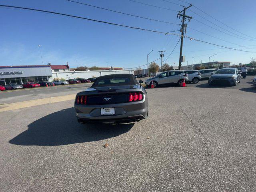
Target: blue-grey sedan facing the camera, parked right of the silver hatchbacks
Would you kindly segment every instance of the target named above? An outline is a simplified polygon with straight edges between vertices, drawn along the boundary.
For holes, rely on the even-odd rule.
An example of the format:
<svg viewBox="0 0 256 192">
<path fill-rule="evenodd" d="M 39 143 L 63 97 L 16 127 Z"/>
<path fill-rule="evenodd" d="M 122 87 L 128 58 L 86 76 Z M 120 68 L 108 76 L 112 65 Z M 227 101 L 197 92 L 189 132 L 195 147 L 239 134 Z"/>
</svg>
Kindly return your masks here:
<svg viewBox="0 0 256 192">
<path fill-rule="evenodd" d="M 235 85 L 241 81 L 241 72 L 237 68 L 218 69 L 208 80 L 209 85 L 228 84 Z"/>
</svg>

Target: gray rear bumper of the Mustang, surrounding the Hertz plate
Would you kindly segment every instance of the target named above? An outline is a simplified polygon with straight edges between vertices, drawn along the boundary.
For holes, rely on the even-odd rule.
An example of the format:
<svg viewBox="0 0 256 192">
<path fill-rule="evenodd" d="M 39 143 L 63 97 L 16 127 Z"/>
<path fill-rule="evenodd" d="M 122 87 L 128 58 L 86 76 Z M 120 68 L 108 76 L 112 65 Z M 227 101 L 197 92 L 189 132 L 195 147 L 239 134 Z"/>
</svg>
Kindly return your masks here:
<svg viewBox="0 0 256 192">
<path fill-rule="evenodd" d="M 114 115 L 101 115 L 101 108 L 115 108 Z M 79 105 L 75 104 L 78 122 L 116 123 L 135 122 L 148 116 L 148 100 L 104 105 Z"/>
</svg>

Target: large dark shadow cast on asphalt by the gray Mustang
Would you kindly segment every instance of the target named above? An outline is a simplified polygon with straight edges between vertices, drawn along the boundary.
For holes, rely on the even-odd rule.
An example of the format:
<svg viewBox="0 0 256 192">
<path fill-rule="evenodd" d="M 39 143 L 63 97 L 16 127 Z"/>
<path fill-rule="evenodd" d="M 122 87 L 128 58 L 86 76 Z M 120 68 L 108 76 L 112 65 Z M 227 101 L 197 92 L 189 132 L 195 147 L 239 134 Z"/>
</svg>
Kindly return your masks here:
<svg viewBox="0 0 256 192">
<path fill-rule="evenodd" d="M 76 120 L 74 107 L 54 112 L 28 125 L 9 142 L 25 146 L 59 146 L 74 143 L 99 141 L 128 132 L 130 124 L 80 124 Z"/>
</svg>

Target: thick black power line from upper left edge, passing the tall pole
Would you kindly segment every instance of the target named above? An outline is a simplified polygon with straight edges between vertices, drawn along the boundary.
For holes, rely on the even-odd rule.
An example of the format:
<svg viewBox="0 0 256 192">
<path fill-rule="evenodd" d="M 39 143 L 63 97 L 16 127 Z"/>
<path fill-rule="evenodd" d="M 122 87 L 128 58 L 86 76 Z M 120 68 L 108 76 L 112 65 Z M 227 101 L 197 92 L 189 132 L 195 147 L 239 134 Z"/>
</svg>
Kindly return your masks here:
<svg viewBox="0 0 256 192">
<path fill-rule="evenodd" d="M 132 26 L 115 24 L 115 23 L 110 23 L 110 22 L 106 22 L 106 21 L 94 20 L 94 19 L 84 18 L 84 17 L 80 17 L 80 16 L 74 16 L 74 15 L 63 14 L 63 13 L 52 12 L 52 11 L 46 11 L 46 10 L 39 10 L 39 9 L 32 9 L 32 8 L 25 8 L 25 7 L 18 7 L 18 6 L 1 5 L 1 4 L 0 4 L 0 6 L 1 7 L 8 7 L 8 8 L 18 8 L 18 9 L 24 9 L 24 10 L 32 10 L 32 11 L 44 12 L 44 13 L 51 13 L 51 14 L 57 14 L 57 15 L 68 16 L 68 17 L 72 17 L 72 18 L 90 20 L 90 21 L 94 21 L 94 22 L 100 22 L 100 23 L 105 23 L 105 24 L 110 24 L 110 25 L 115 25 L 115 26 L 121 26 L 121 27 L 126 27 L 126 28 L 150 31 L 150 32 L 155 32 L 155 33 L 160 33 L 160 34 L 170 34 L 170 35 L 180 36 L 179 34 L 174 34 L 174 33 L 166 33 L 166 32 L 160 32 L 160 31 L 155 31 L 155 30 L 148 30 L 148 29 L 143 29 L 143 28 L 137 28 L 137 27 L 132 27 Z M 230 47 L 226 47 L 226 46 L 221 46 L 221 45 L 218 45 L 218 44 L 213 44 L 213 43 L 210 43 L 210 42 L 206 42 L 206 41 L 203 41 L 203 40 L 198 40 L 196 38 L 192 38 L 192 37 L 188 37 L 188 36 L 184 36 L 184 37 L 185 38 L 190 38 L 190 40 L 196 40 L 196 41 L 199 41 L 199 42 L 204 42 L 204 43 L 207 43 L 207 44 L 211 44 L 211 45 L 215 45 L 215 46 L 219 46 L 219 47 L 223 47 L 223 48 L 227 48 L 227 49 L 243 51 L 243 52 L 252 52 L 252 51 L 244 51 L 244 50 L 234 49 L 234 48 L 230 48 Z M 256 53 L 256 52 L 252 52 L 252 53 Z"/>
</svg>

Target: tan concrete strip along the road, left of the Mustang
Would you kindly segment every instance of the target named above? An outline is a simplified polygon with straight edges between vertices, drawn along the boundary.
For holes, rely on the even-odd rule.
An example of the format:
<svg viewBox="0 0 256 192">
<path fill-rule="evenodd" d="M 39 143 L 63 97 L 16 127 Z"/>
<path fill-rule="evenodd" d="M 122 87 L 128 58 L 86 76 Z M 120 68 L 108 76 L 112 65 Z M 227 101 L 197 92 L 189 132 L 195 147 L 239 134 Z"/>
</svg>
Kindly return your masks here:
<svg viewBox="0 0 256 192">
<path fill-rule="evenodd" d="M 61 101 L 75 100 L 75 98 L 76 98 L 76 94 L 71 94 L 71 95 L 48 97 L 43 99 L 35 99 L 35 100 L 23 101 L 23 102 L 17 102 L 17 103 L 3 104 L 3 105 L 0 105 L 0 112 L 32 107 L 37 105 L 43 105 L 43 104 L 49 104 L 49 103 L 56 103 Z"/>
</svg>

